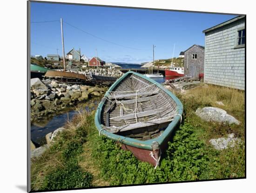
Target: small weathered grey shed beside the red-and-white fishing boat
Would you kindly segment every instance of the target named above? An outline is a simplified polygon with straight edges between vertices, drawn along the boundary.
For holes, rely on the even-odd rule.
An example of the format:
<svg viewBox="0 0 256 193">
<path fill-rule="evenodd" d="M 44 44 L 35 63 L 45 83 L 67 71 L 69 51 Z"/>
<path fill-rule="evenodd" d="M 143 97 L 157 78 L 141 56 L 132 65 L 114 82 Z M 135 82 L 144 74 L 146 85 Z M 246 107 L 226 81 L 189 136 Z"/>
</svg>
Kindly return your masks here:
<svg viewBox="0 0 256 193">
<path fill-rule="evenodd" d="M 194 44 L 184 51 L 184 76 L 199 78 L 204 73 L 204 47 Z"/>
</svg>

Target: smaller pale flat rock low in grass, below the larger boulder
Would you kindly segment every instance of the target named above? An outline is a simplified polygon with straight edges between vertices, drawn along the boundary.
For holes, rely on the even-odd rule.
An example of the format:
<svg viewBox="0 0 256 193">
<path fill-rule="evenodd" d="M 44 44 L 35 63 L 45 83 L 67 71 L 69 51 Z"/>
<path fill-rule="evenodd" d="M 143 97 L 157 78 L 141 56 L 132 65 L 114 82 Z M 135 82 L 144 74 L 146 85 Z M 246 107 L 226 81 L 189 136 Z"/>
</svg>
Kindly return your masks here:
<svg viewBox="0 0 256 193">
<path fill-rule="evenodd" d="M 234 147 L 237 143 L 240 143 L 241 140 L 235 138 L 235 134 L 231 133 L 227 138 L 218 138 L 209 140 L 212 146 L 217 150 L 227 149 L 228 147 Z"/>
</svg>

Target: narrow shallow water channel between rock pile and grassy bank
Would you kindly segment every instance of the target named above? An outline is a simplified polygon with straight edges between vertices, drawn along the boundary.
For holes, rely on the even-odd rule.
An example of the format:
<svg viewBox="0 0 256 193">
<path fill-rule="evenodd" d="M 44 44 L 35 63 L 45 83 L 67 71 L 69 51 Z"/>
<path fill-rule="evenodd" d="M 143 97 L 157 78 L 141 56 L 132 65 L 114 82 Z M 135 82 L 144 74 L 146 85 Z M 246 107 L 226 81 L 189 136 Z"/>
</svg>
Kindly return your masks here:
<svg viewBox="0 0 256 193">
<path fill-rule="evenodd" d="M 92 106 L 91 104 L 94 103 Z M 80 109 L 90 112 L 97 108 L 99 100 L 89 100 L 85 104 L 80 104 Z M 90 107 L 89 107 L 90 105 Z M 46 144 L 45 135 L 54 132 L 59 127 L 64 126 L 68 120 L 72 120 L 74 115 L 78 113 L 77 108 L 69 107 L 56 114 L 46 116 L 43 120 L 31 123 L 31 140 L 37 145 Z"/>
</svg>

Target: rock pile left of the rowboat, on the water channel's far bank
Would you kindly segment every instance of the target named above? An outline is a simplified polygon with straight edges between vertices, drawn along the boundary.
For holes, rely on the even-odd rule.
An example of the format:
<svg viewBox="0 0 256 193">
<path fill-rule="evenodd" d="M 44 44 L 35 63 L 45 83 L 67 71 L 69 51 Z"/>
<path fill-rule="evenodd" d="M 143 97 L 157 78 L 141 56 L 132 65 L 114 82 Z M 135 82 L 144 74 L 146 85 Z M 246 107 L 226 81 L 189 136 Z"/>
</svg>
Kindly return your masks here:
<svg viewBox="0 0 256 193">
<path fill-rule="evenodd" d="M 89 97 L 101 96 L 106 92 L 104 87 L 86 85 L 68 85 L 54 80 L 31 79 L 31 118 L 40 118 L 66 108 L 78 102 L 86 101 Z"/>
</svg>

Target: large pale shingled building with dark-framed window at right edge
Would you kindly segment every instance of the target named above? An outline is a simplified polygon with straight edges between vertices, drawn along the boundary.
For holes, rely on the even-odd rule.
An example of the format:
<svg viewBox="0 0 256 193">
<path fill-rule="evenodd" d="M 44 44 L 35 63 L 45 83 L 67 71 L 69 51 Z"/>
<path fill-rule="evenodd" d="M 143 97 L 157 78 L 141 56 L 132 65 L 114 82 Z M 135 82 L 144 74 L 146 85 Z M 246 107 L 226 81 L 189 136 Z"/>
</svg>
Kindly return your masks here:
<svg viewBox="0 0 256 193">
<path fill-rule="evenodd" d="M 238 16 L 203 31 L 204 82 L 244 90 L 245 16 Z"/>
</svg>

